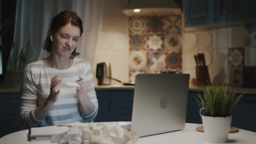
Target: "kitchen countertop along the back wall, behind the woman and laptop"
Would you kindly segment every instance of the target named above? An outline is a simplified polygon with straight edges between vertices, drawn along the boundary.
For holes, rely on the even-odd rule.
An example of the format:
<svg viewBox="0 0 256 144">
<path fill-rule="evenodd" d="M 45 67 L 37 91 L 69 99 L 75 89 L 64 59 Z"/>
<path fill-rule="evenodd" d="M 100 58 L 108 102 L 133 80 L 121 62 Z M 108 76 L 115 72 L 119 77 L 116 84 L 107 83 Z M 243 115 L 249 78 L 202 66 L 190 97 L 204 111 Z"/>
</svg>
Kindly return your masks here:
<svg viewBox="0 0 256 144">
<path fill-rule="evenodd" d="M 134 90 L 134 85 L 95 85 L 95 90 Z M 202 91 L 202 87 L 196 85 L 189 85 L 189 91 Z M 237 93 L 256 94 L 256 88 L 235 88 Z M 0 93 L 19 93 L 20 88 L 0 88 Z"/>
</svg>

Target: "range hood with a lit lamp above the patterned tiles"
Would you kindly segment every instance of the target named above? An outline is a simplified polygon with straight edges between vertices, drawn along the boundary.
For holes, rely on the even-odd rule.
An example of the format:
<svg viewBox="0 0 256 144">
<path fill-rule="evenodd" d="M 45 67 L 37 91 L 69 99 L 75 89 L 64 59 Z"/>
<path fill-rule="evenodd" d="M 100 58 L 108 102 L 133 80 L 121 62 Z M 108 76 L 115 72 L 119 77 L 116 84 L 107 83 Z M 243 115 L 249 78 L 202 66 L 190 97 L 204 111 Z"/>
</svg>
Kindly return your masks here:
<svg viewBox="0 0 256 144">
<path fill-rule="evenodd" d="M 131 0 L 122 12 L 126 16 L 151 16 L 180 13 L 181 8 L 175 0 Z"/>
</svg>

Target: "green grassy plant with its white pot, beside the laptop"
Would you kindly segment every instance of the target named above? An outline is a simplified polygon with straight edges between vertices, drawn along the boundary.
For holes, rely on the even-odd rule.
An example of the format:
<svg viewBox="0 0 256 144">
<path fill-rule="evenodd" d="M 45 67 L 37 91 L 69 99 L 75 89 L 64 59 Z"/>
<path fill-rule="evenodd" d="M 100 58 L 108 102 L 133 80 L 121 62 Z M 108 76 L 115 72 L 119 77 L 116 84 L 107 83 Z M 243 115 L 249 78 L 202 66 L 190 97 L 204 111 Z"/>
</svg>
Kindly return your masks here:
<svg viewBox="0 0 256 144">
<path fill-rule="evenodd" d="M 195 98 L 201 108 L 205 141 L 227 142 L 232 120 L 231 112 L 242 95 L 235 96 L 235 92 L 226 85 L 206 86 L 203 93 Z"/>
</svg>

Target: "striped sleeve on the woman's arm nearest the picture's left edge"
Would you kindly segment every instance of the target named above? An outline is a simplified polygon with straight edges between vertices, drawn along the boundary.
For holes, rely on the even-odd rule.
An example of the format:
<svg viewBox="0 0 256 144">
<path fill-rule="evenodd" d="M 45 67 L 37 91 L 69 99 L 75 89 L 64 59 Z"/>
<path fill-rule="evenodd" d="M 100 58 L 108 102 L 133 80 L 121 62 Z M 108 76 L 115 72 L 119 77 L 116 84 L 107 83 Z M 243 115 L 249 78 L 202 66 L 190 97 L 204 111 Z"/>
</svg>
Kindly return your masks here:
<svg viewBox="0 0 256 144">
<path fill-rule="evenodd" d="M 40 121 L 35 118 L 34 109 L 37 107 L 37 89 L 33 80 L 31 68 L 24 69 L 23 82 L 21 87 L 21 120 L 25 128 L 35 127 Z"/>
</svg>

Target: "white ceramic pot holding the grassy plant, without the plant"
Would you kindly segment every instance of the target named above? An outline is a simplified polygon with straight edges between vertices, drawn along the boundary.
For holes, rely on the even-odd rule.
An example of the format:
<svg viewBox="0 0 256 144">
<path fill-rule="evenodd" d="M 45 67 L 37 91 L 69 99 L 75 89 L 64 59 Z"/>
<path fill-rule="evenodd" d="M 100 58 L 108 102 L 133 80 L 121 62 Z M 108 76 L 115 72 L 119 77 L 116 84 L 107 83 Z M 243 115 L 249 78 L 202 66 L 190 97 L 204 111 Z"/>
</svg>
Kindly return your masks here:
<svg viewBox="0 0 256 144">
<path fill-rule="evenodd" d="M 230 117 L 208 117 L 202 115 L 205 141 L 211 143 L 225 143 L 228 140 Z"/>
</svg>

